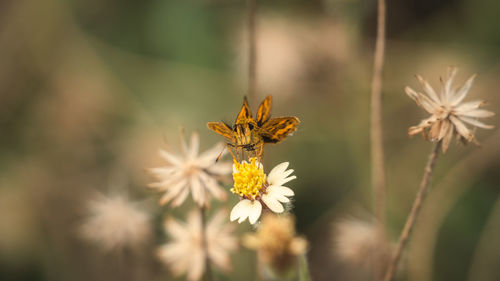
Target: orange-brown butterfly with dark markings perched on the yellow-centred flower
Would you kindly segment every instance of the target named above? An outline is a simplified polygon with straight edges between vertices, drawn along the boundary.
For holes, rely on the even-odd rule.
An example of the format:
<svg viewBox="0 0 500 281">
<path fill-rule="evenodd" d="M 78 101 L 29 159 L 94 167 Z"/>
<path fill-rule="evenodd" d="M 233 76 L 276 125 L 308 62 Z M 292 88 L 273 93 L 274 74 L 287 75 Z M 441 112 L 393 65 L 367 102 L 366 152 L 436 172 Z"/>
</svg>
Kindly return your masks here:
<svg viewBox="0 0 500 281">
<path fill-rule="evenodd" d="M 271 118 L 271 105 L 272 96 L 269 95 L 260 104 L 254 119 L 245 97 L 233 126 L 225 122 L 208 122 L 207 126 L 210 130 L 226 138 L 226 144 L 234 159 L 237 157 L 232 149 L 237 156 L 240 152 L 242 158 L 246 152 L 249 157 L 260 159 L 264 144 L 283 141 L 295 132 L 300 123 L 297 117 Z"/>
</svg>

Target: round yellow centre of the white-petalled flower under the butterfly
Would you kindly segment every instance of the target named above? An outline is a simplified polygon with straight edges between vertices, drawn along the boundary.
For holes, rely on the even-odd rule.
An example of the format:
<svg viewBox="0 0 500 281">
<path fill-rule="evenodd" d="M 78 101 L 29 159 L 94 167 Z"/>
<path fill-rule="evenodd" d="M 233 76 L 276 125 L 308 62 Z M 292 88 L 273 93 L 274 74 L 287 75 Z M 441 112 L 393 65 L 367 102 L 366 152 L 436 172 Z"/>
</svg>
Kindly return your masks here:
<svg viewBox="0 0 500 281">
<path fill-rule="evenodd" d="M 250 163 L 238 163 L 234 160 L 234 166 L 236 172 L 233 173 L 234 186 L 231 192 L 254 200 L 266 183 L 264 170 L 256 163 L 255 157 L 250 159 Z"/>
</svg>

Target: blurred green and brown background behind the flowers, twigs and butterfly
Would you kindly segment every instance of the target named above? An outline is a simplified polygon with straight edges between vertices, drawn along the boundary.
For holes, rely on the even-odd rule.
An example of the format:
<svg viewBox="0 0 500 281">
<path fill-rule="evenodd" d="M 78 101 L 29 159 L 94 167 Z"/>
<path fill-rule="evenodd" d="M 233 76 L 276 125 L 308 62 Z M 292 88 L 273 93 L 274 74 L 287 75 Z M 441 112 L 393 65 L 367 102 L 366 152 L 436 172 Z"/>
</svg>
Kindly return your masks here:
<svg viewBox="0 0 500 281">
<path fill-rule="evenodd" d="M 313 280 L 366 280 L 335 254 L 334 237 L 339 220 L 372 220 L 376 1 L 258 5 L 256 100 L 272 94 L 274 116 L 302 121 L 293 137 L 266 147 L 265 165 L 295 169 L 294 213 Z M 0 2 L 1 280 L 183 280 L 153 252 L 166 241 L 163 218 L 183 219 L 188 206 L 157 206 L 144 169 L 163 164 L 165 140 L 180 147 L 181 126 L 200 133 L 202 150 L 221 141 L 206 122 L 232 122 L 246 94 L 245 12 L 236 0 Z M 415 74 L 438 88 L 455 65 L 458 83 L 478 74 L 468 99 L 500 112 L 500 2 L 389 0 L 387 12 L 387 233 L 395 241 L 432 148 L 407 137 L 426 113 L 403 89 L 418 88 Z M 500 132 L 476 135 L 482 147 L 454 143 L 439 159 L 400 280 L 500 280 Z M 87 201 L 116 189 L 154 217 L 150 243 L 133 258 L 78 235 Z M 252 252 L 232 258 L 233 271 L 217 280 L 256 279 Z"/>
</svg>

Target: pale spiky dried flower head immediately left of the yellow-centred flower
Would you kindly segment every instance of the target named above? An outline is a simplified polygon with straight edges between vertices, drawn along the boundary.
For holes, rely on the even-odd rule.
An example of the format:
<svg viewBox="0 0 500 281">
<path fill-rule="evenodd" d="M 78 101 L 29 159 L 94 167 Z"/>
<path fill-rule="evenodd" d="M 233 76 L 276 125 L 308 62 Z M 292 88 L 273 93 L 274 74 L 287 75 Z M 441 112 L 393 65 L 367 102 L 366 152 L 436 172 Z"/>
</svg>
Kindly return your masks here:
<svg viewBox="0 0 500 281">
<path fill-rule="evenodd" d="M 223 149 L 223 144 L 217 144 L 198 155 L 200 139 L 197 133 L 191 135 L 189 147 L 182 134 L 181 143 L 183 156 L 160 150 L 160 156 L 169 165 L 149 169 L 149 172 L 158 180 L 149 184 L 149 187 L 165 192 L 160 199 L 160 204 L 171 202 L 172 207 L 177 207 L 186 200 L 189 191 L 199 206 L 207 205 L 210 196 L 225 200 L 226 192 L 219 185 L 218 180 L 231 172 L 231 164 L 215 161 Z"/>
</svg>

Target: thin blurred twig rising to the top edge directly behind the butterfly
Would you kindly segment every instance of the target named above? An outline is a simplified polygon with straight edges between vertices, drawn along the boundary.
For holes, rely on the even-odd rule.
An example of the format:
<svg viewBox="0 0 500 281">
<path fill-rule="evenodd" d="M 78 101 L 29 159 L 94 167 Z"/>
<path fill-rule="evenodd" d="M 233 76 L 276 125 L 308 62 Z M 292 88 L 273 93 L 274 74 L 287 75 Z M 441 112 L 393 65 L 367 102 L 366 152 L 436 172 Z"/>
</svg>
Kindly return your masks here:
<svg viewBox="0 0 500 281">
<path fill-rule="evenodd" d="M 255 103 L 255 89 L 257 82 L 257 38 L 255 17 L 257 14 L 257 0 L 247 0 L 247 28 L 248 28 L 248 99 L 250 105 Z"/>
</svg>

